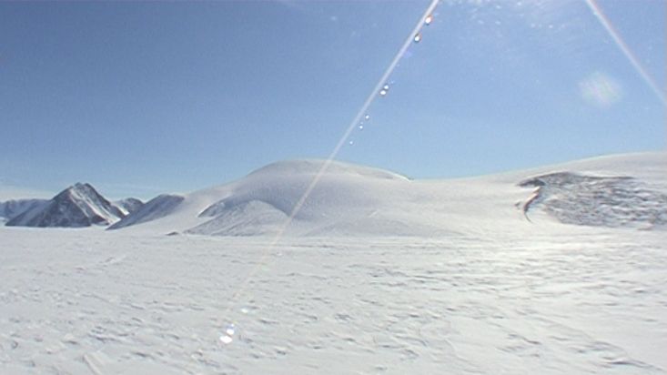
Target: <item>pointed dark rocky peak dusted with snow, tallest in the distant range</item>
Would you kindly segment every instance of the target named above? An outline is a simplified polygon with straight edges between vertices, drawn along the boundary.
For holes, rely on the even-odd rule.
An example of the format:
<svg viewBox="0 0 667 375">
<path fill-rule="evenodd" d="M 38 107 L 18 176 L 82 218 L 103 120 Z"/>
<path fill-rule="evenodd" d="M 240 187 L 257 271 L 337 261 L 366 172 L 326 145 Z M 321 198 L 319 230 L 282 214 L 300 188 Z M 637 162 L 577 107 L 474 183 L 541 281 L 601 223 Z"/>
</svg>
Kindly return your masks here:
<svg viewBox="0 0 667 375">
<path fill-rule="evenodd" d="M 42 204 L 7 221 L 10 227 L 68 227 L 108 225 L 126 215 L 90 184 L 77 183 Z"/>
</svg>

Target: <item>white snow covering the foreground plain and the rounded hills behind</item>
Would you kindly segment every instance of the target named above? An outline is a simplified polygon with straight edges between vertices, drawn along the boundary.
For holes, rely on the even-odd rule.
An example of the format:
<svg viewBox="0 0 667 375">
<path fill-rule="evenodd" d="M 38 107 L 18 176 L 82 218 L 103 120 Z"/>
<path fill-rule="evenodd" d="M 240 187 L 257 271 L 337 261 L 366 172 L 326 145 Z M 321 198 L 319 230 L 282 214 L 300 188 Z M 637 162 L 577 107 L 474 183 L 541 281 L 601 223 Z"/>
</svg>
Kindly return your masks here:
<svg viewBox="0 0 667 375">
<path fill-rule="evenodd" d="M 330 175 L 320 188 L 335 190 L 316 191 L 281 238 L 286 196 L 259 190 L 276 191 L 267 170 L 132 227 L 0 228 L 0 372 L 665 373 L 664 228 L 562 224 L 540 208 L 529 221 L 534 188 L 519 186 L 567 171 L 665 193 L 665 160 L 440 181 L 337 164 L 362 194 Z M 278 166 L 288 188 L 304 163 Z M 203 210 L 248 195 L 249 209 L 200 231 L 241 218 L 244 237 L 192 234 L 217 218 Z"/>
</svg>

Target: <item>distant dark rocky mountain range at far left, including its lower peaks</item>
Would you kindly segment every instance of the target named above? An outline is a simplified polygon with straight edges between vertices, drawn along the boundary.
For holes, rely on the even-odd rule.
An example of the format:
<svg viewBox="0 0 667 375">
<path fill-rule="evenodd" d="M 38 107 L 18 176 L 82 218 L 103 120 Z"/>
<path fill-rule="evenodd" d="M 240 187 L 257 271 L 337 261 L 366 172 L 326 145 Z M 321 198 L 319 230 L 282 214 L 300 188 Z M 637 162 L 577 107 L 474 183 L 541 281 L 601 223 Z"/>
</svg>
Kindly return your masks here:
<svg viewBox="0 0 667 375">
<path fill-rule="evenodd" d="M 142 206 L 136 198 L 110 202 L 90 184 L 77 183 L 51 199 L 0 203 L 0 215 L 9 227 L 82 228 L 113 224 Z"/>
</svg>

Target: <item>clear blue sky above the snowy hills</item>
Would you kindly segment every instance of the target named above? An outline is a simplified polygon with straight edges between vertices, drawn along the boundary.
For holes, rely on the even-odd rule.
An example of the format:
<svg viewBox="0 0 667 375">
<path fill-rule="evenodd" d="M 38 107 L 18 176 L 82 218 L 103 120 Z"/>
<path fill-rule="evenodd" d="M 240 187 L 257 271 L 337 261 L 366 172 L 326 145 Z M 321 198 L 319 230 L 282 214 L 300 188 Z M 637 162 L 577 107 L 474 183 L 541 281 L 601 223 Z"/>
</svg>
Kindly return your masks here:
<svg viewBox="0 0 667 375">
<path fill-rule="evenodd" d="M 328 157 L 429 3 L 0 3 L 0 188 L 151 198 Z M 666 4 L 443 1 L 338 159 L 440 178 L 664 149 Z"/>
</svg>

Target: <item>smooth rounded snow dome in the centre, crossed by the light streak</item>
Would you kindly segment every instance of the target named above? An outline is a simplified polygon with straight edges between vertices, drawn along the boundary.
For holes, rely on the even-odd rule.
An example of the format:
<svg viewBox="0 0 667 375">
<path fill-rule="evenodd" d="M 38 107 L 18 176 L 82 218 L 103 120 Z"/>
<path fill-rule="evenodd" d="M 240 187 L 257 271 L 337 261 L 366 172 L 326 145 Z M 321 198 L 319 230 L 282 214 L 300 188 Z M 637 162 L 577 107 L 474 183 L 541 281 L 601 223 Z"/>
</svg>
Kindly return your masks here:
<svg viewBox="0 0 667 375">
<path fill-rule="evenodd" d="M 349 224 L 389 206 L 382 190 L 396 190 L 406 177 L 370 167 L 326 161 L 292 160 L 259 168 L 238 181 L 226 198 L 205 208 L 208 220 L 188 233 L 255 236 L 277 233 L 285 227 L 294 234 L 315 234 L 323 228 L 346 234 L 372 231 L 373 225 Z M 318 183 L 309 190 L 314 178 Z M 295 211 L 295 208 L 299 208 Z"/>
</svg>

